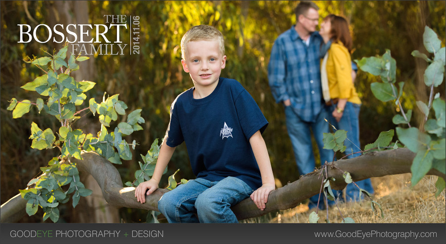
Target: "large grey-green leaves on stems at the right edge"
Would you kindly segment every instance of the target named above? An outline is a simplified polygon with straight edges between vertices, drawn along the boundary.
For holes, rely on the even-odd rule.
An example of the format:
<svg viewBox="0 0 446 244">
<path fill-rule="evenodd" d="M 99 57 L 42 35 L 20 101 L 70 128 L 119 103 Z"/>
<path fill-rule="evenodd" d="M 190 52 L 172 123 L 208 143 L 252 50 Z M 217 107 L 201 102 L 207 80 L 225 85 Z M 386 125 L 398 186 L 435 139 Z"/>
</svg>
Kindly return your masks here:
<svg viewBox="0 0 446 244">
<path fill-rule="evenodd" d="M 411 53 L 412 56 L 421 58 L 429 63 L 424 72 L 424 83 L 430 88 L 430 98 L 427 104 L 423 101 L 416 102 L 418 109 L 425 118 L 425 123 L 422 123 L 420 128 L 410 126 L 412 111 L 409 110 L 407 114 L 405 114 L 400 104 L 399 98 L 401 95 L 397 94 L 402 94 L 403 83 L 400 82 L 399 92 L 392 84 L 395 82 L 393 78 L 395 67 L 393 67 L 390 52 L 386 51 L 382 57 L 363 58 L 360 61 L 356 61 L 362 70 L 373 75 L 380 75 L 383 83 L 375 82 L 371 85 L 376 98 L 383 102 L 395 100 L 395 104 L 399 105 L 402 116 L 395 115 L 392 122 L 395 124 L 407 124 L 409 126 L 408 128 L 400 126 L 396 127 L 396 134 L 399 141 L 401 141 L 405 147 L 416 153 L 411 166 L 412 185 L 417 184 L 431 169 L 438 169 L 443 173 L 445 172 L 445 167 L 441 165 L 444 165 L 444 160 L 446 158 L 446 105 L 445 100 L 441 99 L 439 94 L 434 96 L 434 88 L 440 86 L 445 77 L 445 47 L 441 47 L 441 40 L 438 39 L 437 34 L 428 26 L 425 27 L 423 34 L 423 44 L 426 50 L 434 56 L 433 58 L 429 58 L 426 54 L 423 54 L 420 51 L 413 51 Z M 390 64 L 388 61 L 390 61 Z M 383 76 L 383 73 L 389 75 Z M 434 110 L 434 113 L 432 113 L 431 110 Z M 383 144 L 388 144 L 390 142 L 389 139 L 391 139 L 390 135 L 384 142 L 381 142 L 381 146 L 383 146 Z M 380 138 L 378 138 L 377 142 L 379 140 Z M 375 145 L 377 142 L 372 145 L 369 144 L 370 146 L 367 145 L 366 149 L 375 146 L 379 147 L 380 145 Z M 443 163 L 441 164 L 439 162 Z M 438 195 L 439 192 L 445 188 L 444 180 L 439 178 L 436 185 L 438 187 Z"/>
</svg>

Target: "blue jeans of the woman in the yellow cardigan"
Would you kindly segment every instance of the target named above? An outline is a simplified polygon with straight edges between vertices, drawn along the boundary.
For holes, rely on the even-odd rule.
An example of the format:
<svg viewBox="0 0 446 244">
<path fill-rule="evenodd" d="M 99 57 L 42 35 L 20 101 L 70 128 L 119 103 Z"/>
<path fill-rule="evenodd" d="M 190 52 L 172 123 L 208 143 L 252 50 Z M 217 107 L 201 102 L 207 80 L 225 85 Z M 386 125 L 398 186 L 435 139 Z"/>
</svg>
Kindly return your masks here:
<svg viewBox="0 0 446 244">
<path fill-rule="evenodd" d="M 330 108 L 330 115 L 335 111 L 336 105 Z M 347 139 L 344 141 L 344 146 L 346 147 L 344 154 L 348 155 L 347 158 L 355 158 L 361 155 L 361 153 L 351 154 L 352 152 L 362 151 L 359 142 L 359 110 L 361 109 L 360 104 L 354 104 L 347 102 L 345 104 L 344 113 L 339 122 L 330 116 L 330 122 L 336 127 L 336 129 L 343 129 L 347 131 Z M 351 155 L 349 155 L 351 154 Z M 356 184 L 362 189 L 373 194 L 374 189 L 370 179 L 356 182 Z M 362 198 L 362 197 L 361 197 Z M 350 183 L 346 187 L 346 200 L 347 201 L 357 201 L 359 200 L 359 189 L 353 183 Z"/>
</svg>

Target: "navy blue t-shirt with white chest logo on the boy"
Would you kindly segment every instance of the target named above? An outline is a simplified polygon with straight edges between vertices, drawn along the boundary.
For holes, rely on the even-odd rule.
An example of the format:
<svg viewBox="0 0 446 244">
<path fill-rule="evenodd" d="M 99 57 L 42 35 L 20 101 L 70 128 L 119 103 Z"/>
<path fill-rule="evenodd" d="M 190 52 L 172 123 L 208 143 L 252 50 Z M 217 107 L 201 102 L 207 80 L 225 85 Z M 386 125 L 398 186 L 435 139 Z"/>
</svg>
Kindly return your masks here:
<svg viewBox="0 0 446 244">
<path fill-rule="evenodd" d="M 234 79 L 221 77 L 202 99 L 194 99 L 194 89 L 181 93 L 170 107 L 167 146 L 186 142 L 197 178 L 221 181 L 232 176 L 256 190 L 262 179 L 249 138 L 268 125 L 259 106 Z"/>
</svg>

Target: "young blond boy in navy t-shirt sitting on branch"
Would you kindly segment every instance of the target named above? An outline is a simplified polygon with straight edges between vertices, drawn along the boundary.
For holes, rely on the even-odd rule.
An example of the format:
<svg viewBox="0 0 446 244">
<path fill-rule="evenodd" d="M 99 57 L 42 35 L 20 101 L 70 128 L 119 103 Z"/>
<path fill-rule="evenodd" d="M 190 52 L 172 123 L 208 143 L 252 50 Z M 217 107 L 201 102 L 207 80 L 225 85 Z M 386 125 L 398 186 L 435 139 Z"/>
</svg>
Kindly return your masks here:
<svg viewBox="0 0 446 244">
<path fill-rule="evenodd" d="M 238 223 L 231 206 L 251 196 L 264 210 L 275 189 L 261 135 L 268 122 L 239 82 L 220 77 L 226 56 L 219 30 L 192 27 L 181 40 L 181 55 L 194 87 L 173 101 L 155 172 L 135 197 L 144 203 L 146 190 L 158 188 L 175 147 L 185 141 L 196 179 L 165 193 L 159 211 L 169 223 Z"/>
</svg>

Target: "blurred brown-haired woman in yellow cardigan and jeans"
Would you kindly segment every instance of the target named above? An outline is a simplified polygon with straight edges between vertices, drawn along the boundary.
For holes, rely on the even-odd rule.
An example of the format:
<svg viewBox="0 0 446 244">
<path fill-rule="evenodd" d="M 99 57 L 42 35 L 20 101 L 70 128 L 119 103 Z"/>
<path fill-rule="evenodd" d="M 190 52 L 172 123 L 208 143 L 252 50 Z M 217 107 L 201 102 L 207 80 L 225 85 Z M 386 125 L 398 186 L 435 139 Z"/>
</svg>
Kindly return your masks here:
<svg viewBox="0 0 446 244">
<path fill-rule="evenodd" d="M 329 105 L 331 123 L 336 129 L 347 131 L 345 154 L 347 158 L 354 158 L 361 151 L 359 143 L 359 110 L 361 100 L 356 93 L 352 79 L 352 64 L 350 51 L 352 38 L 348 29 L 347 21 L 340 16 L 330 14 L 324 18 L 319 32 L 324 42 L 332 41 L 332 45 L 322 61 L 322 82 L 328 84 L 324 99 Z M 324 90 L 324 84 L 323 84 Z M 328 94 L 328 91 L 330 94 Z M 354 153 L 354 154 L 352 154 Z M 359 187 L 373 194 L 373 186 L 370 179 L 356 182 Z M 359 200 L 359 189 L 354 184 L 346 187 L 346 200 Z"/>
</svg>

